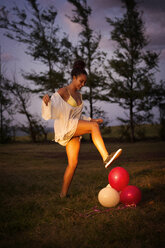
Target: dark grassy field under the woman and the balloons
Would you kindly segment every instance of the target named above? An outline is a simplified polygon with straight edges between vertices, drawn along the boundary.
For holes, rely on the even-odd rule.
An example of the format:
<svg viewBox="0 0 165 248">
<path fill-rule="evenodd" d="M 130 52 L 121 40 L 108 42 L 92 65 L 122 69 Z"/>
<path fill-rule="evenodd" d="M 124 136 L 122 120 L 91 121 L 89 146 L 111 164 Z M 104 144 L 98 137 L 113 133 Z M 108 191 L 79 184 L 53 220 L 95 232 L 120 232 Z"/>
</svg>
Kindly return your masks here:
<svg viewBox="0 0 165 248">
<path fill-rule="evenodd" d="M 0 146 L 1 248 L 163 248 L 165 143 L 106 143 L 123 148 L 116 166 L 142 191 L 137 207 L 110 209 L 97 199 L 108 173 L 92 144 L 82 143 L 70 197 L 59 192 L 67 163 L 57 144 Z M 97 207 L 100 212 L 94 212 Z M 104 210 L 108 210 L 105 212 Z"/>
</svg>

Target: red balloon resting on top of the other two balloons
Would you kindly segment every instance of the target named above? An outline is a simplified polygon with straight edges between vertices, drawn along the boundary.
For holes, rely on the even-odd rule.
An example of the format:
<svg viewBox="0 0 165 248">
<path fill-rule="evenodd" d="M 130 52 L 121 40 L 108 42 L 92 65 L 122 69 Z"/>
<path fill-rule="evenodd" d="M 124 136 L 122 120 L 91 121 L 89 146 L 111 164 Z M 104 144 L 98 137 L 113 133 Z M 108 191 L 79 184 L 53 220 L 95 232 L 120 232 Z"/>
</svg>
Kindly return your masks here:
<svg viewBox="0 0 165 248">
<path fill-rule="evenodd" d="M 129 183 L 129 174 L 123 167 L 115 167 L 110 171 L 108 181 L 112 188 L 121 191 Z"/>
</svg>

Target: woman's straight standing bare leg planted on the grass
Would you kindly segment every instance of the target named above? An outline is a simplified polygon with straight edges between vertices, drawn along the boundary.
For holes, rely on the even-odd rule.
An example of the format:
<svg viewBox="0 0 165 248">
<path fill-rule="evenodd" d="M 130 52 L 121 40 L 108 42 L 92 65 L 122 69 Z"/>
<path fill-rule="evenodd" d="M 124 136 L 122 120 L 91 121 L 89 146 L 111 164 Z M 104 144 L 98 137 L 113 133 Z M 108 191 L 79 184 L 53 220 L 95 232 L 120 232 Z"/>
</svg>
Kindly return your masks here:
<svg viewBox="0 0 165 248">
<path fill-rule="evenodd" d="M 66 145 L 66 153 L 68 157 L 68 166 L 64 173 L 63 185 L 60 193 L 60 197 L 65 197 L 69 190 L 75 169 L 78 163 L 78 154 L 80 150 L 80 137 L 72 138 Z"/>
</svg>

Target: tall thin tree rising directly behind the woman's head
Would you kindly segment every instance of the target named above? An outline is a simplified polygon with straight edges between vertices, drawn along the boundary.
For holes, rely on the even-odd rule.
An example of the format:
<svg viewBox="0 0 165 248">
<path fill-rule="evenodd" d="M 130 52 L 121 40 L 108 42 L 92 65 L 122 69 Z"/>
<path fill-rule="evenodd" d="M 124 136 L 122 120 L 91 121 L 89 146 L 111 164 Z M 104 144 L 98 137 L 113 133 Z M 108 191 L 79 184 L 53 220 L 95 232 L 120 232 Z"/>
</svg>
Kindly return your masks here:
<svg viewBox="0 0 165 248">
<path fill-rule="evenodd" d="M 83 59 L 88 70 L 88 80 L 83 98 L 89 101 L 90 117 L 96 115 L 97 108 L 95 102 L 103 100 L 105 90 L 105 78 L 102 73 L 102 65 L 106 54 L 101 52 L 99 44 L 101 34 L 97 34 L 90 28 L 89 18 L 92 9 L 87 5 L 86 0 L 68 0 L 75 9 L 72 10 L 73 16 L 69 19 L 73 23 L 78 23 L 82 31 L 79 33 L 80 40 L 78 45 L 72 49 L 75 58 Z"/>
</svg>

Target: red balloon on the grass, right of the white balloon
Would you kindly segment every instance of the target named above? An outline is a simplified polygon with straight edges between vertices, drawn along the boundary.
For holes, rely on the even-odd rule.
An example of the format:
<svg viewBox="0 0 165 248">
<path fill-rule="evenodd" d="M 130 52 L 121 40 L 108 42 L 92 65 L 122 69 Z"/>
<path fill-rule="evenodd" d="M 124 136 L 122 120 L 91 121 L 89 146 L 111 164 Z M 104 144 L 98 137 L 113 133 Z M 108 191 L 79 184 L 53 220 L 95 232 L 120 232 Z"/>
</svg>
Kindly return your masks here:
<svg viewBox="0 0 165 248">
<path fill-rule="evenodd" d="M 138 204 L 141 200 L 141 191 L 138 187 L 128 185 L 120 194 L 120 201 L 125 205 Z"/>
</svg>

